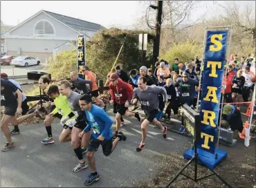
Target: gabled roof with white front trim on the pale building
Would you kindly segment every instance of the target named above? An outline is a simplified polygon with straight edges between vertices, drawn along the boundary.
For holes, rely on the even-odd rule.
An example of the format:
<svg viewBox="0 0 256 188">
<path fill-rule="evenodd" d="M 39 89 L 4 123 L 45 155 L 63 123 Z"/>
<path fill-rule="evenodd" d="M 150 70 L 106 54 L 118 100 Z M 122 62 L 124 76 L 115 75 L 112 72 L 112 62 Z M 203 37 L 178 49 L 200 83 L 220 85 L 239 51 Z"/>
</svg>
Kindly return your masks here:
<svg viewBox="0 0 256 188">
<path fill-rule="evenodd" d="M 15 26 L 14 28 L 5 32 L 3 35 L 5 35 L 6 33 L 10 33 L 10 32 L 12 32 L 12 30 L 15 30 L 15 29 L 19 28 L 24 23 L 26 23 L 27 21 L 30 21 L 30 19 L 33 19 L 34 17 L 36 17 L 37 15 L 39 15 L 42 12 L 44 12 L 46 15 L 52 17 L 53 19 L 59 21 L 60 23 L 64 24 L 68 28 L 71 28 L 71 29 L 75 30 L 76 32 L 81 32 L 81 31 L 85 31 L 85 30 L 100 30 L 100 29 L 104 28 L 103 26 L 101 26 L 97 23 L 92 23 L 92 22 L 89 22 L 89 21 L 84 21 L 82 19 L 75 19 L 75 18 L 72 18 L 72 17 L 59 15 L 59 14 L 49 12 L 49 11 L 46 11 L 46 10 L 40 10 L 39 12 L 37 12 L 32 17 L 29 17 L 25 21 L 19 23 L 19 25 Z M 88 36 L 86 36 L 86 37 L 88 37 Z"/>
</svg>

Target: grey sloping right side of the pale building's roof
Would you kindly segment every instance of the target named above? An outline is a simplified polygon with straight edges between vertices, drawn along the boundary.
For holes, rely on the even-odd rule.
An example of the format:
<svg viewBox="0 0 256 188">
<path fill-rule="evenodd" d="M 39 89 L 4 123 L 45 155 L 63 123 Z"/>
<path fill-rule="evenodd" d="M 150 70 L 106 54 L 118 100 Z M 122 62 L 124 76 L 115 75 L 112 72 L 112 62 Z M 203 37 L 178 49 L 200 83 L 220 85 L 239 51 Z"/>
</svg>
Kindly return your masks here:
<svg viewBox="0 0 256 188">
<path fill-rule="evenodd" d="M 78 31 L 100 30 L 100 29 L 104 28 L 103 26 L 101 26 L 100 24 L 97 24 L 97 23 L 84 21 L 82 19 L 75 19 L 73 17 L 67 17 L 65 15 L 59 15 L 57 13 L 49 12 L 49 11 L 46 11 L 46 10 L 43 10 L 43 11 L 46 12 L 48 15 L 51 15 L 55 19 L 57 19 L 59 21 L 62 21 L 66 25 L 68 25 L 71 28 L 74 28 L 75 30 L 78 30 Z"/>
</svg>

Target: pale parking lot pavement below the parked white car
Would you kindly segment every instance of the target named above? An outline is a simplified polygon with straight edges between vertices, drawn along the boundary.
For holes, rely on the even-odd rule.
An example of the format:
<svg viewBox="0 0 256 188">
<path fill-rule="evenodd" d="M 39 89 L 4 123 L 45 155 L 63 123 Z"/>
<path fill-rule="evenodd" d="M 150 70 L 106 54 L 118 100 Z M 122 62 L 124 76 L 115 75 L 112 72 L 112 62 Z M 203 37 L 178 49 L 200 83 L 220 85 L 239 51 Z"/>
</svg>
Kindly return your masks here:
<svg viewBox="0 0 256 188">
<path fill-rule="evenodd" d="M 1 73 L 6 73 L 8 76 L 27 75 L 27 73 L 30 71 L 42 71 L 47 73 L 47 66 L 45 66 L 44 64 L 39 64 L 36 66 L 28 66 L 28 67 L 15 67 L 15 66 L 1 65 Z"/>
</svg>

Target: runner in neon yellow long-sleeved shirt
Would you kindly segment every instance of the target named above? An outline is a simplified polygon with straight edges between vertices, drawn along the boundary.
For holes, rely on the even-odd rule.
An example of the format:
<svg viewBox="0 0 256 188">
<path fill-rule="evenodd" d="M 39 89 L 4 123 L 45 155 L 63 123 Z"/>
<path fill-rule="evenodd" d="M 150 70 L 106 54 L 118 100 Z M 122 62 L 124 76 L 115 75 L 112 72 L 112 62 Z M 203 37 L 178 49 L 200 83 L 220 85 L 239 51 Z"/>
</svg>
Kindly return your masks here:
<svg viewBox="0 0 256 188">
<path fill-rule="evenodd" d="M 63 126 L 62 133 L 60 133 L 59 140 L 60 142 L 68 142 L 71 140 L 71 130 L 73 125 L 67 124 L 67 120 L 75 119 L 75 114 L 71 111 L 71 107 L 68 105 L 68 100 L 66 96 L 63 96 L 59 92 L 59 88 L 56 85 L 48 86 L 47 94 L 54 100 L 55 109 L 49 113 L 49 116 L 55 115 L 56 113 L 62 113 L 62 119 L 60 120 L 60 124 Z M 53 137 L 46 138 L 42 140 L 42 144 L 49 144 L 48 140 L 53 140 Z M 54 142 L 54 140 L 53 140 Z M 50 142 L 50 143 L 53 143 Z"/>
</svg>

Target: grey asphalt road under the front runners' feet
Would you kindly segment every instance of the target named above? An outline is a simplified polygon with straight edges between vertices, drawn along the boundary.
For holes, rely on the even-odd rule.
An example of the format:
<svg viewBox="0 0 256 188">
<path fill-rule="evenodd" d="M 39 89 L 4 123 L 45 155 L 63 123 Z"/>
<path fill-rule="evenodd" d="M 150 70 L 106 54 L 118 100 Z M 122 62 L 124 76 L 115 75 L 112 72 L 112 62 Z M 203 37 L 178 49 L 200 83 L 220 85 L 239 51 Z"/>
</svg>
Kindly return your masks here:
<svg viewBox="0 0 256 188">
<path fill-rule="evenodd" d="M 112 110 L 109 110 L 113 118 Z M 172 124 L 179 124 L 174 120 Z M 115 129 L 115 124 L 112 130 Z M 131 187 L 140 180 L 156 175 L 163 165 L 161 158 L 168 153 L 183 155 L 191 146 L 192 139 L 168 132 L 165 140 L 161 131 L 148 128 L 145 149 L 140 153 L 136 147 L 140 143 L 140 123 L 135 118 L 125 119 L 121 128 L 127 135 L 127 141 L 119 142 L 111 156 L 105 157 L 102 149 L 95 153 L 96 168 L 100 181 L 90 187 Z M 1 151 L 1 187 L 84 187 L 89 168 L 77 173 L 72 169 L 77 158 L 71 148 L 71 142 L 60 144 L 58 136 L 62 131 L 60 124 L 53 125 L 54 144 L 44 145 L 40 141 L 46 138 L 44 124 L 21 126 L 21 133 L 12 136 L 15 148 Z M 1 133 L 1 147 L 6 139 Z M 185 164 L 186 160 L 184 160 Z"/>
</svg>

